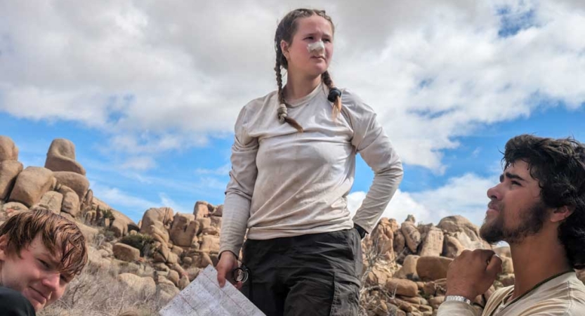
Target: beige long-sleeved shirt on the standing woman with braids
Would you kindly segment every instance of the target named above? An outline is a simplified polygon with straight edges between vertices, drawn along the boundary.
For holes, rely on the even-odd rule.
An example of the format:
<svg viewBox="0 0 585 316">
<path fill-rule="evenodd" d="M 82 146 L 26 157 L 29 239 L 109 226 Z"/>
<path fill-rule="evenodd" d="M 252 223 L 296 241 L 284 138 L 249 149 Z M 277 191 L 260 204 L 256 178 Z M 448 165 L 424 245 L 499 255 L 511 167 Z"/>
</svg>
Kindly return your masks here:
<svg viewBox="0 0 585 316">
<path fill-rule="evenodd" d="M 249 239 L 272 239 L 348 229 L 353 222 L 374 228 L 402 180 L 400 158 L 371 107 L 343 91 L 334 120 L 327 92 L 320 85 L 291 102 L 289 116 L 304 133 L 280 124 L 276 91 L 239 113 L 220 252 L 239 254 L 247 229 Z M 357 153 L 374 170 L 374 181 L 352 221 L 347 195 Z"/>
</svg>

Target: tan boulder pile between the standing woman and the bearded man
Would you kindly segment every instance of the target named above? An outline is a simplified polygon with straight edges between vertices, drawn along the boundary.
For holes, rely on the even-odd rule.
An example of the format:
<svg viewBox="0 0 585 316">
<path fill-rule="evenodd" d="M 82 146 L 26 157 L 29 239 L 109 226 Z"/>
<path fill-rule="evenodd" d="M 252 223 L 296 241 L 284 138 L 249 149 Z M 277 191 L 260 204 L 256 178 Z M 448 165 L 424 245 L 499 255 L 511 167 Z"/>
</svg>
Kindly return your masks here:
<svg viewBox="0 0 585 316">
<path fill-rule="evenodd" d="M 382 218 L 364 239 L 364 289 L 362 306 L 368 315 L 434 315 L 447 291 L 447 269 L 466 249 L 492 249 L 479 237 L 479 228 L 463 216 L 448 216 L 438 225 L 416 225 L 414 216 L 398 224 Z M 509 251 L 501 254 L 503 275 L 476 302 L 497 288 L 513 284 Z M 505 280 L 505 282 L 503 282 Z"/>
</svg>

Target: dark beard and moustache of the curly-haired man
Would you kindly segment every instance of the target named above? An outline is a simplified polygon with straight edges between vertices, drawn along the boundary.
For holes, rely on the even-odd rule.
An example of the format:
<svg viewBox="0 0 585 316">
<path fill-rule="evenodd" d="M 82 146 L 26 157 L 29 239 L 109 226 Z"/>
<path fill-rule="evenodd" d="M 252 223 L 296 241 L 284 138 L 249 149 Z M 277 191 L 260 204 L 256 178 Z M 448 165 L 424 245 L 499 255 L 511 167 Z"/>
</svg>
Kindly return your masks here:
<svg viewBox="0 0 585 316">
<path fill-rule="evenodd" d="M 525 237 L 539 232 L 546 219 L 547 207 L 544 202 L 539 201 L 530 206 L 530 208 L 520 211 L 522 222 L 517 227 L 508 229 L 504 225 L 504 216 L 506 215 L 504 209 L 506 209 L 506 206 L 501 204 L 497 218 L 494 218 L 491 223 L 488 223 L 486 218 L 480 228 L 480 237 L 489 244 L 501 241 L 508 242 L 508 244 L 522 242 Z"/>
</svg>

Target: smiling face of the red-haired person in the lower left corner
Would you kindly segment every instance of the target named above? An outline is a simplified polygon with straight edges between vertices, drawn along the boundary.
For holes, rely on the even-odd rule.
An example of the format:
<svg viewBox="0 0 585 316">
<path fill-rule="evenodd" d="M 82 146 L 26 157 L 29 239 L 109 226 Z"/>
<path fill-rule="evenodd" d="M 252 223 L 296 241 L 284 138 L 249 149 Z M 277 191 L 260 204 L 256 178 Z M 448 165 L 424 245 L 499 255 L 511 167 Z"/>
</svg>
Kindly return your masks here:
<svg viewBox="0 0 585 316">
<path fill-rule="evenodd" d="M 37 235 L 18 254 L 6 251 L 7 236 L 0 237 L 0 280 L 4 287 L 19 291 L 37 312 L 57 301 L 73 278 L 59 272 L 60 258 L 51 254 Z"/>
</svg>

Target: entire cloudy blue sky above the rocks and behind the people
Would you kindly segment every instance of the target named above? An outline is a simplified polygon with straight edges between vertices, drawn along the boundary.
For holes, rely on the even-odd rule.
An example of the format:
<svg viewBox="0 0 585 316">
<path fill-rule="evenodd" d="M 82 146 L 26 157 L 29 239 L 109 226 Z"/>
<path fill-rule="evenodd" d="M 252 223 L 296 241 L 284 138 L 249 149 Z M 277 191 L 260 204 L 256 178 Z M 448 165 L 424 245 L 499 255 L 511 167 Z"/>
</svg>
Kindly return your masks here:
<svg viewBox="0 0 585 316">
<path fill-rule="evenodd" d="M 384 216 L 480 224 L 508 138 L 585 141 L 581 2 L 366 1 L 367 20 L 352 1 L 313 2 L 336 23 L 334 80 L 376 110 L 405 165 Z M 303 3 L 92 6 L 0 3 L 0 135 L 27 166 L 72 140 L 96 197 L 136 221 L 223 203 L 235 117 L 275 88 L 275 21 Z M 350 209 L 371 181 L 358 159 Z"/>
</svg>

